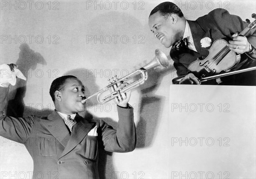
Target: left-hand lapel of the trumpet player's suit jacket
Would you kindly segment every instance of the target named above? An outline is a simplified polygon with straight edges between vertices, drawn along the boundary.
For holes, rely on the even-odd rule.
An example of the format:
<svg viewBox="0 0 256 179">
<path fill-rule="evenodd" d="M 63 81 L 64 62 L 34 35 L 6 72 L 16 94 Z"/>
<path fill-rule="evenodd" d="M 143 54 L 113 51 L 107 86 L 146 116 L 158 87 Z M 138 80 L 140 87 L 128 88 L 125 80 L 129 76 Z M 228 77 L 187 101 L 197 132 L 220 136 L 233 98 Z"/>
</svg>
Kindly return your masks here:
<svg viewBox="0 0 256 179">
<path fill-rule="evenodd" d="M 49 120 L 44 120 L 47 129 L 50 133 L 63 145 L 67 146 L 67 142 L 70 139 L 70 133 L 60 115 L 54 110 L 48 115 Z"/>
</svg>

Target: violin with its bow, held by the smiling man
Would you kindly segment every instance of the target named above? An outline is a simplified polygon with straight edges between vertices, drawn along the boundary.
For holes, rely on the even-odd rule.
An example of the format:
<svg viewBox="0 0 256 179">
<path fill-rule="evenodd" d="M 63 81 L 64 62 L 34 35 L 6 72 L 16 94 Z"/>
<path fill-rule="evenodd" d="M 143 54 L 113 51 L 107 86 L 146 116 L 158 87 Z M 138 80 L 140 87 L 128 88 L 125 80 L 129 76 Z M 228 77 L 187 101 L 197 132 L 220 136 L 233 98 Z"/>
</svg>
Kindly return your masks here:
<svg viewBox="0 0 256 179">
<path fill-rule="evenodd" d="M 252 14 L 252 17 L 256 19 L 256 14 Z M 247 23 L 250 23 L 250 20 L 246 19 Z M 242 32 L 239 33 L 239 36 L 244 36 L 250 29 L 256 26 L 256 20 L 250 23 Z M 232 67 L 239 64 L 241 56 L 230 50 L 227 46 L 228 42 L 224 39 L 215 40 L 210 47 L 209 55 L 204 59 L 197 59 L 188 66 L 187 74 L 193 73 L 200 82 L 204 82 L 205 78 L 208 80 L 216 79 L 223 76 L 222 74 L 228 73 Z M 254 70 L 254 69 L 250 69 Z M 244 70 L 242 72 L 245 72 Z M 220 74 L 222 73 L 222 74 Z M 218 74 L 219 77 L 218 77 Z M 236 73 L 228 73 L 233 75 Z M 173 84 L 177 84 L 185 75 L 174 78 L 172 80 Z M 211 78 L 211 76 L 214 76 Z M 227 76 L 227 75 L 225 75 Z"/>
</svg>

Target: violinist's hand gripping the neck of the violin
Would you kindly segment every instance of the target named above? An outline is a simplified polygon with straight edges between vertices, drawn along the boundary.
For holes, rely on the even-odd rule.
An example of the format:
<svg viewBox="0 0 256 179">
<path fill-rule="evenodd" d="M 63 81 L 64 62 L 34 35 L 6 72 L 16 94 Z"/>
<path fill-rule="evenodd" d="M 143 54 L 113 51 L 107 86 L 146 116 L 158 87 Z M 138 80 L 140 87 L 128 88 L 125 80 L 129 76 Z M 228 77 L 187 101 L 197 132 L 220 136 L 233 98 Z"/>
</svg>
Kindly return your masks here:
<svg viewBox="0 0 256 179">
<path fill-rule="evenodd" d="M 238 32 L 232 35 L 233 40 L 229 41 L 227 44 L 230 47 L 230 50 L 238 53 L 243 54 L 244 52 L 248 52 L 250 50 L 250 43 L 247 41 L 245 36 L 238 36 Z"/>
</svg>

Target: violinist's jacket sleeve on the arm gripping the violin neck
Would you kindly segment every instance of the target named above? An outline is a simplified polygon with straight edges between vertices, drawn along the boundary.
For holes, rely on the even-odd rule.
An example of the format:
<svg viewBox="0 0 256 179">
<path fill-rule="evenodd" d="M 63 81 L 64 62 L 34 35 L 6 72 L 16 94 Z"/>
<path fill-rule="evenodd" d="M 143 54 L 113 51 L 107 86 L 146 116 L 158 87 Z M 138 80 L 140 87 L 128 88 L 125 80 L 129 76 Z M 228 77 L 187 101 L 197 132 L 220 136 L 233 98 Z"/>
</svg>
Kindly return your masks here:
<svg viewBox="0 0 256 179">
<path fill-rule="evenodd" d="M 232 38 L 235 32 L 242 32 L 249 24 L 244 22 L 239 16 L 231 15 L 225 9 L 215 9 L 208 14 L 208 20 L 212 22 L 223 35 Z M 256 28 L 250 29 L 246 34 L 248 42 L 256 48 Z M 250 58 L 255 59 L 255 50 L 252 53 L 247 53 Z"/>
</svg>

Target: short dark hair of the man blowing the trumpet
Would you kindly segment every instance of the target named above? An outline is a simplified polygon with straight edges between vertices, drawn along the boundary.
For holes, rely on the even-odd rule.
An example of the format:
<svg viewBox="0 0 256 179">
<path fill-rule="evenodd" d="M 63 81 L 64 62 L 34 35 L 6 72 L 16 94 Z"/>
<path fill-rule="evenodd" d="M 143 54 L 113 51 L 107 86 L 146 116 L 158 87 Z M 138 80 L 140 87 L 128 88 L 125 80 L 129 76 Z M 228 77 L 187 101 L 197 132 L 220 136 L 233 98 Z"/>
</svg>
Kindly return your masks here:
<svg viewBox="0 0 256 179">
<path fill-rule="evenodd" d="M 52 81 L 52 84 L 50 87 L 50 95 L 52 97 L 53 102 L 55 102 L 55 91 L 62 90 L 68 78 L 76 78 L 76 77 L 73 75 L 66 75 L 66 76 L 61 76 L 59 78 L 56 78 L 55 80 Z"/>
</svg>

